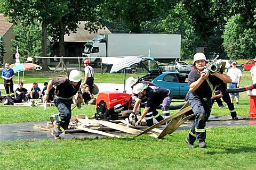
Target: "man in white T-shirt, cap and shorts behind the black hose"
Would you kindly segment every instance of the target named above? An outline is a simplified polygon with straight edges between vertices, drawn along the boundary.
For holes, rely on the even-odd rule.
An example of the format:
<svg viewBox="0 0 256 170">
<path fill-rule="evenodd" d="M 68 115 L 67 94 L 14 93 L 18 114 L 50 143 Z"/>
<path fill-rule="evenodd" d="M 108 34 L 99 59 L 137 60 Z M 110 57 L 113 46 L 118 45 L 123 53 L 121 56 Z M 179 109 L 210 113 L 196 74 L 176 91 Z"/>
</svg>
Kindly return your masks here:
<svg viewBox="0 0 256 170">
<path fill-rule="evenodd" d="M 231 78 L 231 83 L 229 83 L 228 88 L 229 89 L 236 89 L 239 88 L 240 82 L 241 82 L 241 77 L 242 77 L 242 72 L 241 70 L 237 69 L 236 67 L 236 61 L 232 63 L 232 67 L 228 70 L 227 75 Z M 234 97 L 236 98 L 236 104 L 239 104 L 239 94 L 238 92 L 235 93 L 230 93 L 230 98 L 231 98 L 231 103 L 234 103 Z"/>
</svg>

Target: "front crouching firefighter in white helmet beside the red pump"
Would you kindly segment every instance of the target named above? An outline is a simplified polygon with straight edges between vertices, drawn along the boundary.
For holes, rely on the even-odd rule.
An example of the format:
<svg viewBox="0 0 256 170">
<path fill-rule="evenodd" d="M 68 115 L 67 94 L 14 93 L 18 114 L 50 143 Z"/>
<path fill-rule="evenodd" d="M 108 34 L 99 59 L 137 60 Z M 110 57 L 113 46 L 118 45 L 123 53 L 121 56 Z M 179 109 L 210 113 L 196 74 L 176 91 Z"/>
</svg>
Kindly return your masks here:
<svg viewBox="0 0 256 170">
<path fill-rule="evenodd" d="M 164 118 L 156 110 L 160 104 L 162 104 L 162 111 L 165 115 L 165 118 L 170 116 L 169 106 L 172 99 L 170 90 L 156 86 L 148 86 L 148 84 L 138 83 L 133 87 L 132 92 L 137 94 L 139 98 L 133 108 L 133 114 L 135 114 L 140 101 L 143 99 L 147 100 L 145 109 L 135 125 L 138 125 L 138 123 L 141 122 L 144 117 L 147 122 L 147 126 L 152 126 L 154 124 L 153 116 L 158 122 L 162 121 Z"/>
</svg>

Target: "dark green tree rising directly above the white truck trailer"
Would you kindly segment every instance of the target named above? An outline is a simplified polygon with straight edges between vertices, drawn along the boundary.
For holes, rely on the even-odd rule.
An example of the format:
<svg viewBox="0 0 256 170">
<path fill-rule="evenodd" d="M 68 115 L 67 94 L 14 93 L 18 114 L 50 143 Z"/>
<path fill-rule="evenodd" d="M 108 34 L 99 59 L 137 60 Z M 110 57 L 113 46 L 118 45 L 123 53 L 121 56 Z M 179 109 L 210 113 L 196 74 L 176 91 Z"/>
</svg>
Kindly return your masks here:
<svg viewBox="0 0 256 170">
<path fill-rule="evenodd" d="M 100 6 L 103 24 L 122 23 L 124 30 L 141 33 L 141 23 L 159 18 L 174 1 L 167 0 L 105 0 Z"/>
</svg>

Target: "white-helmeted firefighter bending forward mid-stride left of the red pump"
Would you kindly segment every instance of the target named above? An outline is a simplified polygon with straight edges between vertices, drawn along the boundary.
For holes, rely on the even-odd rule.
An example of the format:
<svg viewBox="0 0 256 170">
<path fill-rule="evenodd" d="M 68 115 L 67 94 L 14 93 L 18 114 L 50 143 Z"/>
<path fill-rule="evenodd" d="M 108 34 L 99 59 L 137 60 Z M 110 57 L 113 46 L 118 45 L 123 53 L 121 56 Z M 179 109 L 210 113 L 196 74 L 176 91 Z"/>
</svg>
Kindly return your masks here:
<svg viewBox="0 0 256 170">
<path fill-rule="evenodd" d="M 81 72 L 78 70 L 72 70 L 69 73 L 69 77 L 52 79 L 47 85 L 47 89 L 44 95 L 44 101 L 49 97 L 50 89 L 55 85 L 55 98 L 54 104 L 59 110 L 59 114 L 55 115 L 56 121 L 54 121 L 54 128 L 52 135 L 55 139 L 60 139 L 60 134 L 68 128 L 68 124 L 71 118 L 71 104 L 72 97 L 77 95 L 82 98 L 82 95 L 78 93 L 81 85 Z"/>
</svg>

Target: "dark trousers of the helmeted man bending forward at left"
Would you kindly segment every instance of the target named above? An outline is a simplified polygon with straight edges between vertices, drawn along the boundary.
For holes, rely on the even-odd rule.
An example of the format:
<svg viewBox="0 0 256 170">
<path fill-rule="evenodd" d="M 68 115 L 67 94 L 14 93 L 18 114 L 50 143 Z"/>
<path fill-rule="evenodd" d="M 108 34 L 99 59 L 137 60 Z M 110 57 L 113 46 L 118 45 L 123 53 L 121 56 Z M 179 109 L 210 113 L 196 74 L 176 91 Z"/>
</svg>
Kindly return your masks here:
<svg viewBox="0 0 256 170">
<path fill-rule="evenodd" d="M 59 132 L 53 131 L 53 133 L 58 136 L 60 135 L 64 130 L 68 129 L 68 124 L 71 118 L 71 104 L 72 100 L 63 100 L 59 98 L 54 98 L 54 104 L 59 110 L 59 114 L 55 116 L 56 118 L 56 124 L 60 126 Z"/>
</svg>

